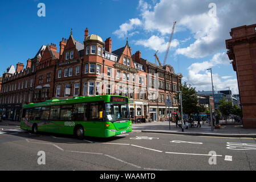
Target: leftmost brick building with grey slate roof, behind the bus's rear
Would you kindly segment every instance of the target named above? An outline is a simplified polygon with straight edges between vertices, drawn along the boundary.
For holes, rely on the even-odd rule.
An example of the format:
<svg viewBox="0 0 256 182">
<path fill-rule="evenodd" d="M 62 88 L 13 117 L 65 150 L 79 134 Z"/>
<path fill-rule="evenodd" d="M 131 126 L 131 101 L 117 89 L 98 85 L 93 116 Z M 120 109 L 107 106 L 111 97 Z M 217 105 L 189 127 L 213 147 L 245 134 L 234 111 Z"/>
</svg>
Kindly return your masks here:
<svg viewBox="0 0 256 182">
<path fill-rule="evenodd" d="M 7 68 L 3 73 L 2 89 L 0 94 L 0 111 L 6 118 L 19 121 L 22 106 L 33 101 L 36 65 L 41 59 L 42 46 L 33 59 L 27 60 L 26 68 L 18 63 Z"/>
</svg>

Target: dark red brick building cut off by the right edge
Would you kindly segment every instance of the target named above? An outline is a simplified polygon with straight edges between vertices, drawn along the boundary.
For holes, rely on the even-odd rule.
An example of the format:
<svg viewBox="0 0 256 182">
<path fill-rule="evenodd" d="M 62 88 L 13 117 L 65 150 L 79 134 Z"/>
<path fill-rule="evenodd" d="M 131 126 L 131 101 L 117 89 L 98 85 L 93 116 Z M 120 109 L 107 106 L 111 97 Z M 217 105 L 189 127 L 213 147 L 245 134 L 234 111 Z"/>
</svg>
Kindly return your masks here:
<svg viewBox="0 0 256 182">
<path fill-rule="evenodd" d="M 227 55 L 237 72 L 243 126 L 256 127 L 256 24 L 232 28 L 226 40 Z"/>
</svg>

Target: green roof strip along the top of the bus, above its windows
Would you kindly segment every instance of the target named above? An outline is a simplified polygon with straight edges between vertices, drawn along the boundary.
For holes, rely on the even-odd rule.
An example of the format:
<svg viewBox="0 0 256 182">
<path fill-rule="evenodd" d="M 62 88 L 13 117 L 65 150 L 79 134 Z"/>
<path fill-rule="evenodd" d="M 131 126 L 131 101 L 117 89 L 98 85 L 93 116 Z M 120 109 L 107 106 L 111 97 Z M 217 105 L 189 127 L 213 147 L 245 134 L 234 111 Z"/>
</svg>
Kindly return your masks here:
<svg viewBox="0 0 256 182">
<path fill-rule="evenodd" d="M 104 95 L 104 96 L 78 96 L 67 100 L 48 100 L 40 103 L 30 103 L 28 105 L 24 105 L 23 108 L 30 108 L 30 107 L 42 107 L 42 106 L 54 106 L 54 105 L 65 105 L 65 104 L 79 104 L 83 102 L 96 102 L 96 101 L 104 101 L 104 102 L 112 102 L 111 97 L 123 97 L 127 98 L 129 104 L 129 98 L 124 96 L 113 96 L 113 95 Z M 124 103 L 124 102 L 122 102 Z"/>
</svg>

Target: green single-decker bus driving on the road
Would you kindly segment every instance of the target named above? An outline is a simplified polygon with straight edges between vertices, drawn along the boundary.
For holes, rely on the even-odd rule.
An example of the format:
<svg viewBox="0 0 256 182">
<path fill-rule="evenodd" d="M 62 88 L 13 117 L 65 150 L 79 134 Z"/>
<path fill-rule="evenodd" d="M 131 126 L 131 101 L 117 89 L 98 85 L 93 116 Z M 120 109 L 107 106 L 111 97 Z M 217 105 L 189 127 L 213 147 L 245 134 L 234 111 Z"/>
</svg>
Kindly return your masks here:
<svg viewBox="0 0 256 182">
<path fill-rule="evenodd" d="M 128 97 L 91 96 L 23 106 L 21 129 L 108 138 L 132 131 Z"/>
</svg>

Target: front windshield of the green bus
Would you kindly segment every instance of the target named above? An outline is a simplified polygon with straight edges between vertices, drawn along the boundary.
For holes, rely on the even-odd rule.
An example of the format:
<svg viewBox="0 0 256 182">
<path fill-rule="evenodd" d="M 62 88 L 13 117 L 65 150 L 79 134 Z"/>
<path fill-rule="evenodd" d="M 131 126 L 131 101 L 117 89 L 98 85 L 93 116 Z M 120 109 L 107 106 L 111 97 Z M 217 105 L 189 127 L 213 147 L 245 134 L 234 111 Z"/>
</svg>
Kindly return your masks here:
<svg viewBox="0 0 256 182">
<path fill-rule="evenodd" d="M 107 121 L 130 119 L 128 104 L 107 103 L 105 106 Z"/>
</svg>

